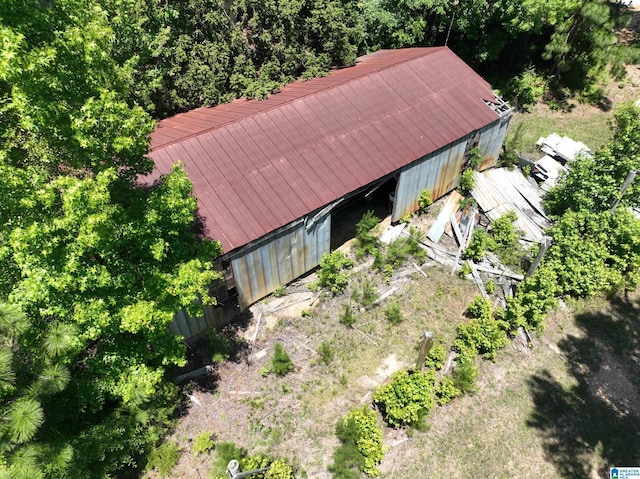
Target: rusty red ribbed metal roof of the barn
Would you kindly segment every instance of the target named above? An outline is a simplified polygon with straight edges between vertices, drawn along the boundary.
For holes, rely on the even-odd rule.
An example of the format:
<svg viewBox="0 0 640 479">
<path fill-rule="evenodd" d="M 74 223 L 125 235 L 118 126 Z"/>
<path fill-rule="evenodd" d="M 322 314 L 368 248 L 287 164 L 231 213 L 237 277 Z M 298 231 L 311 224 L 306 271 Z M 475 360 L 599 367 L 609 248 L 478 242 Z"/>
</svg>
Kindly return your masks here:
<svg viewBox="0 0 640 479">
<path fill-rule="evenodd" d="M 383 50 L 353 67 L 161 121 L 155 181 L 182 161 L 226 252 L 498 119 L 491 87 L 446 47 Z"/>
</svg>

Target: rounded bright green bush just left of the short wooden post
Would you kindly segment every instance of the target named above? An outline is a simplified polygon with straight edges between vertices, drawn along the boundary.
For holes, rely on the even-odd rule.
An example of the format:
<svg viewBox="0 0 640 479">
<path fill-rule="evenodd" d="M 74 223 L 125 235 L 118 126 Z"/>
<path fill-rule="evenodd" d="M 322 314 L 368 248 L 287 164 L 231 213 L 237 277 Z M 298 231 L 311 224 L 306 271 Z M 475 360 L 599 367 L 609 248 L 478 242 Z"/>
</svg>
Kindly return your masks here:
<svg viewBox="0 0 640 479">
<path fill-rule="evenodd" d="M 391 427 L 419 427 L 433 407 L 433 371 L 398 371 L 391 382 L 377 388 L 373 401 Z"/>
</svg>

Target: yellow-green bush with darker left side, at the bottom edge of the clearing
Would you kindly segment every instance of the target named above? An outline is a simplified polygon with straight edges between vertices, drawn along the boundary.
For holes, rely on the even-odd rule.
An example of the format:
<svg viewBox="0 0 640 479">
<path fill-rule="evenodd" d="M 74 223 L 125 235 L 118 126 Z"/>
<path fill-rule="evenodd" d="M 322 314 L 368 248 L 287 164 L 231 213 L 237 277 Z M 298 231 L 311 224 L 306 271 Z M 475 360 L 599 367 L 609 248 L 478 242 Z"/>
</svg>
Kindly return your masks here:
<svg viewBox="0 0 640 479">
<path fill-rule="evenodd" d="M 382 430 L 376 413 L 369 407 L 354 409 L 336 426 L 341 445 L 333 455 L 329 471 L 334 478 L 358 478 L 356 470 L 375 477 L 380 475 L 378 464 L 384 457 Z"/>
</svg>

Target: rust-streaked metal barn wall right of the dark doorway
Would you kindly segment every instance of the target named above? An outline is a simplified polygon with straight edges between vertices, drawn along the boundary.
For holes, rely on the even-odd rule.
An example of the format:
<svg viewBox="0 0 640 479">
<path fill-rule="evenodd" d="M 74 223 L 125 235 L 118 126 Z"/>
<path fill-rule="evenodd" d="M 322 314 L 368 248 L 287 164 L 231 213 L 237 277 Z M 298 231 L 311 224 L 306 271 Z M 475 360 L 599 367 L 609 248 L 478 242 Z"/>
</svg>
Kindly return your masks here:
<svg viewBox="0 0 640 479">
<path fill-rule="evenodd" d="M 500 155 L 508 125 L 509 118 L 501 118 L 402 168 L 391 221 L 399 221 L 407 213 L 416 211 L 423 190 L 431 191 L 431 197 L 436 200 L 458 186 L 468 142 L 478 140 L 483 157 L 481 169 L 494 166 Z"/>
</svg>

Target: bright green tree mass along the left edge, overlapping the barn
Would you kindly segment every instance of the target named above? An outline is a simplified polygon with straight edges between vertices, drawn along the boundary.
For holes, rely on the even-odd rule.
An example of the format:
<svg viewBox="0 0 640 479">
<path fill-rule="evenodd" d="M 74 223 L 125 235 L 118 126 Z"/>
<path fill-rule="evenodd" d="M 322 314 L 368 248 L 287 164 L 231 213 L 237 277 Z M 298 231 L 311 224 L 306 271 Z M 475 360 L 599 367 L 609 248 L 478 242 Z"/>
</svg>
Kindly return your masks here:
<svg viewBox="0 0 640 479">
<path fill-rule="evenodd" d="M 129 103 L 110 20 L 88 0 L 0 9 L 0 300 L 19 312 L 0 315 L 0 472 L 12 478 L 140 467 L 177 404 L 167 379 L 184 350 L 167 324 L 211 302 L 218 276 L 184 171 L 135 185 L 153 121 Z"/>
</svg>

